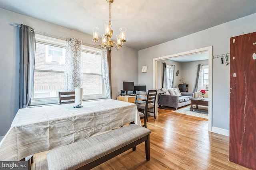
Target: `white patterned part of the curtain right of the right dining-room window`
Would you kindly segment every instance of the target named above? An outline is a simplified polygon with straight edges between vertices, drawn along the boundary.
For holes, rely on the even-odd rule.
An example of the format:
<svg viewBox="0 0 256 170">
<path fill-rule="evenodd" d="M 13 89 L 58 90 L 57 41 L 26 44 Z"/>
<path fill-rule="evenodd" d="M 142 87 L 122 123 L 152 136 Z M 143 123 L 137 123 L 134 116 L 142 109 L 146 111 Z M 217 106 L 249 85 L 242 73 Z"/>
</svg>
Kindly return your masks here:
<svg viewBox="0 0 256 170">
<path fill-rule="evenodd" d="M 108 99 L 111 98 L 111 89 L 110 89 L 110 77 L 109 77 L 109 70 L 108 70 L 108 56 L 107 56 L 107 50 L 108 48 L 102 48 L 101 49 L 101 67 L 102 67 L 102 75 L 103 75 L 103 80 L 104 80 L 104 85 L 105 85 L 105 91 L 106 91 L 106 96 Z"/>
</svg>

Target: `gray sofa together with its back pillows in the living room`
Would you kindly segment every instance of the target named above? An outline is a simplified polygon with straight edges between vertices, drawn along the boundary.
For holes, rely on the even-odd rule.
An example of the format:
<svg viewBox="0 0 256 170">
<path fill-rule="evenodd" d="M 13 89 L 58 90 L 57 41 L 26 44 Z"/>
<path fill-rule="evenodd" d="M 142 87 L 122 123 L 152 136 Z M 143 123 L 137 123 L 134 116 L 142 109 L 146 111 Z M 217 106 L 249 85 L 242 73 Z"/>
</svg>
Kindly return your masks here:
<svg viewBox="0 0 256 170">
<path fill-rule="evenodd" d="M 190 99 L 194 98 L 194 93 L 180 92 L 179 88 L 162 88 L 162 94 L 158 94 L 158 106 L 174 107 L 176 110 L 178 107 L 186 106 L 190 104 Z"/>
</svg>

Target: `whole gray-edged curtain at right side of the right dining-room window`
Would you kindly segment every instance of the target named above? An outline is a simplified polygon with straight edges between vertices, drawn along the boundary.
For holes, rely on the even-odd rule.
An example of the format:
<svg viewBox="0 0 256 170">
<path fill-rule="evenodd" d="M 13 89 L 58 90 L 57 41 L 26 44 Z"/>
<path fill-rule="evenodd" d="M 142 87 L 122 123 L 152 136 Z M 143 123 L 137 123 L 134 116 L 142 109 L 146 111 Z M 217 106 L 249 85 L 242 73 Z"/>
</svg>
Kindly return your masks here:
<svg viewBox="0 0 256 170">
<path fill-rule="evenodd" d="M 111 99 L 111 60 L 110 60 L 111 51 L 108 48 L 101 49 L 101 66 L 102 66 L 102 75 L 105 85 L 106 96 L 108 99 Z"/>
</svg>

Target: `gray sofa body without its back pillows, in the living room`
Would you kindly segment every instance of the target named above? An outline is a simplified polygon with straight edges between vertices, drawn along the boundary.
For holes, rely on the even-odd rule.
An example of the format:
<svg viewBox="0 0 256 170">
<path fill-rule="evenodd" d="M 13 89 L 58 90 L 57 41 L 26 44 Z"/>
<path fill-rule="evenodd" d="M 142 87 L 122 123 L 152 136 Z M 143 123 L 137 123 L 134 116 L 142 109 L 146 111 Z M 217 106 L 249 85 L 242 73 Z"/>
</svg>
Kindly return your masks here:
<svg viewBox="0 0 256 170">
<path fill-rule="evenodd" d="M 194 93 L 180 92 L 182 96 L 171 94 L 158 94 L 158 106 L 174 107 L 176 110 L 178 107 L 186 106 L 190 104 L 190 98 L 194 98 Z"/>
</svg>

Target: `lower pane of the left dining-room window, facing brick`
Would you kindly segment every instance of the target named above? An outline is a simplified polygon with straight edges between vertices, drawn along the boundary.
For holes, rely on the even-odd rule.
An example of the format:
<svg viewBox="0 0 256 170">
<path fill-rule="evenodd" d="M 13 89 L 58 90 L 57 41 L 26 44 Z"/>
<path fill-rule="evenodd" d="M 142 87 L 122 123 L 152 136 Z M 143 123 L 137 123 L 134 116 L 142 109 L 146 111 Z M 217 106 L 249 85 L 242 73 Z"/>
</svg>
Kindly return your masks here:
<svg viewBox="0 0 256 170">
<path fill-rule="evenodd" d="M 64 87 L 64 73 L 35 72 L 34 98 L 57 97 Z"/>
</svg>

